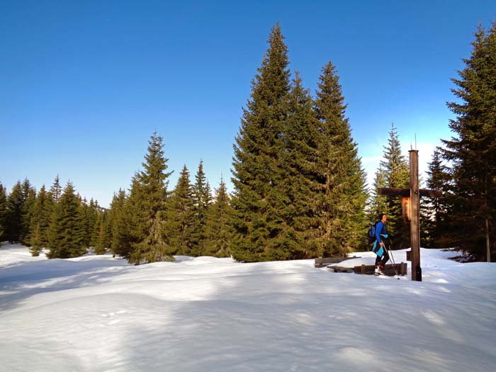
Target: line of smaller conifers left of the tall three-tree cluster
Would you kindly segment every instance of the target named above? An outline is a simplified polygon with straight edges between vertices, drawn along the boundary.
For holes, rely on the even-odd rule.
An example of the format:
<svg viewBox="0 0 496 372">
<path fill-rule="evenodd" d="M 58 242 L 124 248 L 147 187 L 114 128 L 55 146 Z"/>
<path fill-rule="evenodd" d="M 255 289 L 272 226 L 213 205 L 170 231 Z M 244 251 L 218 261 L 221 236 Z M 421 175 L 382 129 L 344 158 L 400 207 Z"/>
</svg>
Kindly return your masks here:
<svg viewBox="0 0 496 372">
<path fill-rule="evenodd" d="M 210 189 L 200 162 L 195 182 L 184 166 L 178 184 L 167 190 L 162 137 L 154 133 L 144 169 L 135 174 L 130 191 L 115 193 L 111 208 L 88 203 L 71 182 L 59 176 L 47 191 L 36 192 L 25 179 L 7 195 L 0 183 L 0 242 L 20 242 L 33 256 L 72 258 L 94 249 L 111 252 L 133 264 L 171 261 L 175 254 L 229 257 L 230 196 L 223 179 Z"/>
</svg>

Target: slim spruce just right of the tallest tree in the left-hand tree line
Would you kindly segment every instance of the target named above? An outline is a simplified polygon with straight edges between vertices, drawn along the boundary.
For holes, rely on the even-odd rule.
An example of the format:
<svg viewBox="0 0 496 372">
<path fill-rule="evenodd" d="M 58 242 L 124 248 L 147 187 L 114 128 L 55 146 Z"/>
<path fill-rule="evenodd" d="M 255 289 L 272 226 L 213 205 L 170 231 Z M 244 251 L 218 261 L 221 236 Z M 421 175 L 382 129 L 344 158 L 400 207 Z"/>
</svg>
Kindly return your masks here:
<svg viewBox="0 0 496 372">
<path fill-rule="evenodd" d="M 193 208 L 193 188 L 188 168 L 184 165 L 177 185 L 167 201 L 167 218 L 163 230 L 167 247 L 174 254 L 190 255 L 193 252 Z"/>
</svg>

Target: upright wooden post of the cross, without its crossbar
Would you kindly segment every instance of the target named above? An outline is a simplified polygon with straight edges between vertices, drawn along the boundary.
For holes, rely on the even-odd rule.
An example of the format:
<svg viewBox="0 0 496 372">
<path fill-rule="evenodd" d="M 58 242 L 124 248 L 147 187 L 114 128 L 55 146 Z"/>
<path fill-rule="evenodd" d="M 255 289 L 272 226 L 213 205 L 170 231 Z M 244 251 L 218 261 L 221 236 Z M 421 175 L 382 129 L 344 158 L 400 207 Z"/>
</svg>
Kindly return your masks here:
<svg viewBox="0 0 496 372">
<path fill-rule="evenodd" d="M 420 194 L 419 194 L 419 152 L 410 150 L 410 210 L 412 220 L 410 221 L 410 244 L 412 252 L 412 281 L 422 281 L 422 269 L 420 267 Z"/>
</svg>

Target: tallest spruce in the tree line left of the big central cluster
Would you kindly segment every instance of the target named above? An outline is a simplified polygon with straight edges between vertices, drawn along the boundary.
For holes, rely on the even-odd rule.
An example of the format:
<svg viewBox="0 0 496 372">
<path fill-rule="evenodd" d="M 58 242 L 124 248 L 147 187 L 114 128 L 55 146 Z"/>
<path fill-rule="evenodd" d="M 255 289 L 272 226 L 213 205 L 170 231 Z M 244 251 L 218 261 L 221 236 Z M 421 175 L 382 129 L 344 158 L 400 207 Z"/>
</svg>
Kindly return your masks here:
<svg viewBox="0 0 496 372">
<path fill-rule="evenodd" d="M 162 236 L 165 203 L 167 201 L 167 173 L 164 157 L 163 138 L 155 132 L 149 141 L 143 170 L 135 175 L 130 198 L 135 208 L 140 210 L 135 229 L 135 242 L 129 261 L 134 264 L 155 261 L 170 261 L 169 249 Z"/>
</svg>

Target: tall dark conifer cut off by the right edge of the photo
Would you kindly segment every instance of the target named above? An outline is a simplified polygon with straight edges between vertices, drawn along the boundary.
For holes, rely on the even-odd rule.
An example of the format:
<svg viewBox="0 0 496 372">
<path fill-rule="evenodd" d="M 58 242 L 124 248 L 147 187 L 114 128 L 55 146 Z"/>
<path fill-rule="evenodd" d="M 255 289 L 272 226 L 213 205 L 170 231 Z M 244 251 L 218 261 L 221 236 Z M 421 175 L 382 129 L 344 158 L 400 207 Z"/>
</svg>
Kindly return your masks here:
<svg viewBox="0 0 496 372">
<path fill-rule="evenodd" d="M 452 79 L 456 115 L 449 127 L 456 134 L 444 140 L 444 159 L 453 164 L 453 237 L 478 257 L 491 259 L 496 224 L 496 22 L 479 26 L 470 58 L 459 79 Z"/>
</svg>

